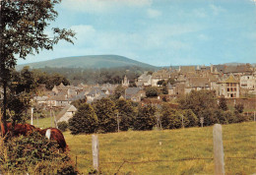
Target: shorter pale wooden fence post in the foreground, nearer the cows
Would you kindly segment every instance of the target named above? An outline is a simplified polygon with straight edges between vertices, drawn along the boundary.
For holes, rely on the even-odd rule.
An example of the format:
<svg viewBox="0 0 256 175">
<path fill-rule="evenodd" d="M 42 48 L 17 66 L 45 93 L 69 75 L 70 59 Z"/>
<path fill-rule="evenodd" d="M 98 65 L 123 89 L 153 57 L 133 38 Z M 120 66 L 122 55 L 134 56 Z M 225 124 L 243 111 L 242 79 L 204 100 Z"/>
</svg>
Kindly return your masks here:
<svg viewBox="0 0 256 175">
<path fill-rule="evenodd" d="M 93 166 L 98 172 L 99 170 L 99 154 L 98 154 L 98 140 L 97 136 L 93 135 L 92 136 L 92 148 L 93 148 Z"/>
</svg>

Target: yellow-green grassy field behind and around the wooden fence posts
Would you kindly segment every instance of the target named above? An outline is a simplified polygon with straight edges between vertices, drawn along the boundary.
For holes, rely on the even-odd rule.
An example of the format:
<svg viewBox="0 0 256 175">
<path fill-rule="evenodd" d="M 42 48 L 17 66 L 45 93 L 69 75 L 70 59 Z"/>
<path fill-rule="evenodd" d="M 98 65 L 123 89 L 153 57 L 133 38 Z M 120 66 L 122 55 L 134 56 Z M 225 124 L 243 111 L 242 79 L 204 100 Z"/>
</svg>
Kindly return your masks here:
<svg viewBox="0 0 256 175">
<path fill-rule="evenodd" d="M 226 174 L 256 173 L 256 123 L 224 125 Z M 92 168 L 92 135 L 64 133 L 81 173 Z M 213 127 L 99 134 L 103 174 L 213 174 Z"/>
</svg>

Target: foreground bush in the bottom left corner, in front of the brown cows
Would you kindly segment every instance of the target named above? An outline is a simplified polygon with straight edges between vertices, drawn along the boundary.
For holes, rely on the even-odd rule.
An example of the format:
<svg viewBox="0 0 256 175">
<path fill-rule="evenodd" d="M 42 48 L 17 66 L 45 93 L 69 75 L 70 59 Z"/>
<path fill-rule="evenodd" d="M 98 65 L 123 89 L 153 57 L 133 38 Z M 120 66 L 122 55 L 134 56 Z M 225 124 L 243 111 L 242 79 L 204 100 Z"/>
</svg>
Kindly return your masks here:
<svg viewBox="0 0 256 175">
<path fill-rule="evenodd" d="M 37 132 L 28 137 L 8 139 L 0 147 L 1 173 L 77 174 L 69 155 L 57 147 L 55 141 Z"/>
</svg>

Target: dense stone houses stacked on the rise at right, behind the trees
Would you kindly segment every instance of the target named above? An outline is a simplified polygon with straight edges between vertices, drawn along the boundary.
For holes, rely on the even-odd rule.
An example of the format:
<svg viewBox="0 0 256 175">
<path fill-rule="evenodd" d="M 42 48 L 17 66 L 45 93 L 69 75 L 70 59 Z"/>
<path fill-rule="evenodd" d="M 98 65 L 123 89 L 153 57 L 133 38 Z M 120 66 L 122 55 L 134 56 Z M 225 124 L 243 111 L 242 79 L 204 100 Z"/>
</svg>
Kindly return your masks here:
<svg viewBox="0 0 256 175">
<path fill-rule="evenodd" d="M 162 69 L 152 75 L 144 73 L 138 78 L 137 87 L 160 87 L 161 80 L 173 79 L 167 85 L 169 95 L 189 93 L 192 89 L 214 89 L 218 96 L 238 98 L 256 94 L 256 69 L 250 64 L 225 66 L 180 66 Z"/>
</svg>

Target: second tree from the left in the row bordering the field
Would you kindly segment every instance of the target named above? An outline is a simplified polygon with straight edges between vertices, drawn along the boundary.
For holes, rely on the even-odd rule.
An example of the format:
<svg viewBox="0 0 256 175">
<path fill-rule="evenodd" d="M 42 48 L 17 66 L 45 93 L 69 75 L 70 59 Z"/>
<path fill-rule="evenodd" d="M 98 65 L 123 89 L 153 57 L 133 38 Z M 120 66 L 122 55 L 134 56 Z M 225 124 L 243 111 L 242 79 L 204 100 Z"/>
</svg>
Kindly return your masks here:
<svg viewBox="0 0 256 175">
<path fill-rule="evenodd" d="M 116 109 L 109 98 L 101 98 L 93 103 L 98 119 L 98 132 L 115 132 L 117 130 Z"/>
</svg>

